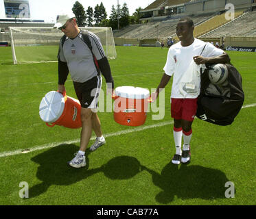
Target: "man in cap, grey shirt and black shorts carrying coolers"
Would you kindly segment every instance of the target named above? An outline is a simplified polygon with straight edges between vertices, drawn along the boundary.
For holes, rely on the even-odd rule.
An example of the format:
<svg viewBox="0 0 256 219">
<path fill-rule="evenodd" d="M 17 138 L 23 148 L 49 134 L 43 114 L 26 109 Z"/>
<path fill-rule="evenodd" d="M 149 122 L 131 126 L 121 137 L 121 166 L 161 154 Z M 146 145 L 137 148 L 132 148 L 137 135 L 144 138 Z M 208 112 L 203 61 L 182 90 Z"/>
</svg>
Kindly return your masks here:
<svg viewBox="0 0 256 219">
<path fill-rule="evenodd" d="M 65 92 L 65 81 L 70 73 L 75 93 L 81 104 L 80 151 L 69 162 L 70 166 L 81 168 L 86 166 L 84 154 L 92 130 L 95 131 L 97 138 L 90 150 L 95 151 L 99 146 L 105 144 L 100 120 L 97 116 L 97 101 L 102 87 L 100 72 L 106 79 L 109 93 L 113 92 L 114 81 L 100 39 L 89 31 L 82 32 L 78 28 L 73 14 L 58 16 L 54 28 L 60 29 L 65 34 L 60 40 L 58 51 L 58 91 Z M 88 42 L 84 41 L 84 34 L 87 34 L 91 48 Z"/>
</svg>

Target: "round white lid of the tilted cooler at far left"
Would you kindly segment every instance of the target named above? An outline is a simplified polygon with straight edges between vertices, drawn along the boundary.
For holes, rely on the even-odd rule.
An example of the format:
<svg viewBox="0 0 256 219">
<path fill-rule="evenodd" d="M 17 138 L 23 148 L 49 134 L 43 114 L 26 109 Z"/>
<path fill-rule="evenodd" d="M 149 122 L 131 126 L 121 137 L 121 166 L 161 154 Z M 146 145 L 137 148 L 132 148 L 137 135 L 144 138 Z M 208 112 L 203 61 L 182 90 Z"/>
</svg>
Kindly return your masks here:
<svg viewBox="0 0 256 219">
<path fill-rule="evenodd" d="M 39 115 L 45 123 L 54 123 L 60 118 L 65 107 L 65 98 L 60 92 L 50 91 L 45 94 L 40 105 Z"/>
</svg>

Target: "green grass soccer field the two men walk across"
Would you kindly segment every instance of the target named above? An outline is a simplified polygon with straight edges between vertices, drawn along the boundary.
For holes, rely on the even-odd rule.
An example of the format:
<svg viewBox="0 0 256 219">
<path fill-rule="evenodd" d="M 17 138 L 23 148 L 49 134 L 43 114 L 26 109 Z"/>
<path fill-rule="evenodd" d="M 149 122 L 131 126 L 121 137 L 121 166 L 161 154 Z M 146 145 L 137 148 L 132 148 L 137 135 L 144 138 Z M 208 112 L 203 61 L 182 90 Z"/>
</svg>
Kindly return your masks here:
<svg viewBox="0 0 256 219">
<path fill-rule="evenodd" d="M 117 60 L 110 60 L 115 87 L 158 86 L 166 48 L 116 49 Z M 175 152 L 170 84 L 162 120 L 152 120 L 157 113 L 149 113 L 145 125 L 135 128 L 115 123 L 111 112 L 99 113 L 106 144 L 86 151 L 86 168 L 74 169 L 67 162 L 79 149 L 80 129 L 49 128 L 38 114 L 43 96 L 57 89 L 58 64 L 12 65 L 10 47 L 0 51 L 0 205 L 256 204 L 256 110 L 251 105 L 256 103 L 256 53 L 229 52 L 249 107 L 226 127 L 196 119 L 187 166 L 170 163 Z M 70 77 L 66 90 L 75 97 Z M 18 150 L 31 152 L 13 155 Z M 29 185 L 29 198 L 19 197 L 22 181 Z M 235 185 L 235 198 L 225 197 L 228 181 Z"/>
</svg>

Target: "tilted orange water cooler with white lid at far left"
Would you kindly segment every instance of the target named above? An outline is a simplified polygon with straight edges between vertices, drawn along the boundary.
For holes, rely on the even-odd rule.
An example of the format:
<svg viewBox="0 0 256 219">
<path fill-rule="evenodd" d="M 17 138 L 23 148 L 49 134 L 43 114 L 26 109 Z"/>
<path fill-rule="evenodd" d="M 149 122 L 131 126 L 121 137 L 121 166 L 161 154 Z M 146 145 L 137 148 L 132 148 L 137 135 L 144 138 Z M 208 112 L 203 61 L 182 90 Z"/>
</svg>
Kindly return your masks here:
<svg viewBox="0 0 256 219">
<path fill-rule="evenodd" d="M 65 93 L 51 91 L 45 94 L 40 102 L 39 116 L 49 127 L 54 125 L 70 129 L 82 127 L 80 102 Z"/>
</svg>

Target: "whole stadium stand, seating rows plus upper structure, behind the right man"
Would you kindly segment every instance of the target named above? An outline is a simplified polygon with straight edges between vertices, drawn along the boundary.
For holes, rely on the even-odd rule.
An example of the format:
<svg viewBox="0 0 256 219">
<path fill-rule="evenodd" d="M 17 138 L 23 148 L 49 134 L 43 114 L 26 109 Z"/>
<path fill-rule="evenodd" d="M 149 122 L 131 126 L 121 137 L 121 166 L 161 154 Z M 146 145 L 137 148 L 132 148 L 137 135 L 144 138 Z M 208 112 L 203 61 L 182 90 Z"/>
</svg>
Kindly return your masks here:
<svg viewBox="0 0 256 219">
<path fill-rule="evenodd" d="M 226 15 L 229 15 L 226 11 L 230 13 L 230 8 L 226 8 L 227 3 L 235 8 L 233 21 L 226 18 Z M 256 3 L 251 0 L 156 0 L 141 11 L 141 23 L 146 24 L 130 25 L 115 31 L 114 37 L 167 40 L 172 36 L 174 40 L 178 40 L 176 24 L 184 16 L 193 19 L 196 38 L 215 38 L 216 41 L 222 36 L 253 37 L 256 36 L 256 12 L 252 12 L 254 8 Z M 174 10 L 174 13 L 170 13 L 170 9 Z"/>
</svg>

